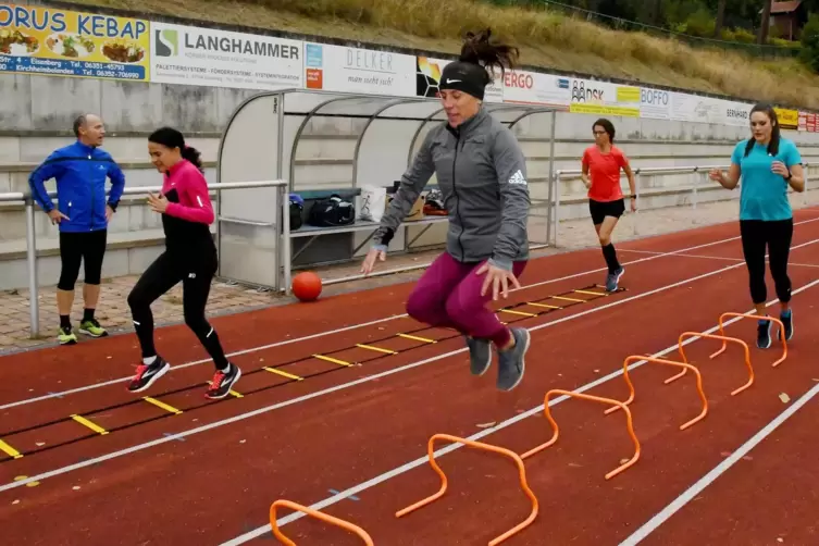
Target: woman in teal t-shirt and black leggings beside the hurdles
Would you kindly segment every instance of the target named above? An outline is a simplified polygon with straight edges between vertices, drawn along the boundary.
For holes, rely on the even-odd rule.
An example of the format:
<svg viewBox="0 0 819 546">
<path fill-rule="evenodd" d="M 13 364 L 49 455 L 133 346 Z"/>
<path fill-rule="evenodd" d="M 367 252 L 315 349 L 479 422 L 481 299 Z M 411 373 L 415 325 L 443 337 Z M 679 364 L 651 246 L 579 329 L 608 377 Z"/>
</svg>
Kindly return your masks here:
<svg viewBox="0 0 819 546">
<path fill-rule="evenodd" d="M 769 104 L 757 104 L 750 110 L 750 132 L 752 137 L 739 142 L 734 148 L 728 175 L 715 169 L 710 172 L 710 177 L 722 187 L 733 189 L 742 176 L 740 234 L 745 263 L 748 266 L 750 297 L 756 307 L 756 314 L 767 317 L 767 247 L 771 276 L 782 306 L 780 320 L 785 327 L 785 339 L 791 339 L 793 312 L 790 306 L 787 255 L 793 237 L 793 212 L 787 200 L 787 186 L 795 191 L 805 190 L 802 157 L 792 140 L 780 136 L 777 112 Z M 757 326 L 757 347 L 767 349 L 770 346 L 771 321 L 760 320 Z"/>
</svg>

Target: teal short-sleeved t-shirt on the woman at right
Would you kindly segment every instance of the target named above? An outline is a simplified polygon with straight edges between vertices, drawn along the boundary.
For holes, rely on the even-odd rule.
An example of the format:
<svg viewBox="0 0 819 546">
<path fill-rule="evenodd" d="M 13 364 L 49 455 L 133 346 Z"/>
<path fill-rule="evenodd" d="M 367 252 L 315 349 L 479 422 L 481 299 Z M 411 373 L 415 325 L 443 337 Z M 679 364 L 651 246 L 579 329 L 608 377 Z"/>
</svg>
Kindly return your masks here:
<svg viewBox="0 0 819 546">
<path fill-rule="evenodd" d="M 802 162 L 799 150 L 787 138 L 780 138 L 779 153 L 768 154 L 768 147 L 754 144 L 745 157 L 748 140 L 736 145 L 731 162 L 740 165 L 740 220 L 789 220 L 793 218 L 787 200 L 787 181 L 771 171 L 773 161 L 781 161 L 789 169 Z"/>
</svg>

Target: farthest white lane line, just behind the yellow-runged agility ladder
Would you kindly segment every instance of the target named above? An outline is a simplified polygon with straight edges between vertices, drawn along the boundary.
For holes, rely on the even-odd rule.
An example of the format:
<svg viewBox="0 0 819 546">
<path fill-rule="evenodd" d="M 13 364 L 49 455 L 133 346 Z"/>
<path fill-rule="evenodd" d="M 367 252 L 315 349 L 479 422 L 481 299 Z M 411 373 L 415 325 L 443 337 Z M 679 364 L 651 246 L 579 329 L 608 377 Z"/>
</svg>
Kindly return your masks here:
<svg viewBox="0 0 819 546">
<path fill-rule="evenodd" d="M 812 219 L 812 220 L 805 220 L 805 221 L 802 221 L 802 222 L 796 222 L 796 223 L 794 223 L 794 226 L 802 225 L 802 224 L 807 224 L 807 223 L 816 222 L 816 221 L 819 221 L 819 218 Z M 700 248 L 712 247 L 712 246 L 716 246 L 716 245 L 722 245 L 723 243 L 730 243 L 730 241 L 739 240 L 739 239 L 740 239 L 740 237 L 730 237 L 728 239 L 720 239 L 720 240 L 716 240 L 716 241 L 712 241 L 712 243 L 706 243 L 704 245 L 697 245 L 697 246 L 688 247 L 688 248 L 681 248 L 680 250 L 672 250 L 670 252 L 658 252 L 657 255 L 649 256 L 648 258 L 640 258 L 637 260 L 633 260 L 633 261 L 630 261 L 630 262 L 622 262 L 622 265 L 633 265 L 635 263 L 647 262 L 647 261 L 656 260 L 658 258 L 663 258 L 663 257 L 668 257 L 668 256 L 677 256 L 677 255 L 680 255 L 681 252 L 688 252 L 691 250 L 697 250 L 697 249 L 700 249 Z M 538 258 L 538 259 L 547 259 L 547 258 L 548 257 L 546 257 L 546 258 Z M 544 285 L 547 285 L 547 284 L 558 283 L 560 281 L 568 281 L 568 280 L 571 280 L 571 278 L 578 278 L 578 277 L 581 277 L 581 276 L 590 275 L 592 273 L 599 273 L 599 272 L 603 272 L 603 271 L 607 271 L 607 269 L 606 268 L 600 268 L 600 269 L 596 269 L 596 270 L 584 271 L 582 273 L 574 273 L 574 274 L 562 276 L 562 277 L 559 277 L 559 278 L 553 278 L 553 280 L 549 280 L 549 281 L 541 281 L 538 283 L 533 283 L 533 284 L 530 284 L 530 285 L 521 286 L 520 288 L 512 288 L 509 291 L 519 291 L 519 290 L 525 290 L 525 289 L 529 289 L 529 288 L 536 288 L 538 286 L 544 286 Z M 258 347 L 250 347 L 248 349 L 243 349 L 240 351 L 231 352 L 231 353 L 227 355 L 227 358 L 238 357 L 240 355 L 248 355 L 250 352 L 257 352 L 257 351 L 261 351 L 261 350 L 272 349 L 272 348 L 275 348 L 275 347 L 282 347 L 284 345 L 290 345 L 290 344 L 294 344 L 294 343 L 306 342 L 306 340 L 309 340 L 309 339 L 315 339 L 317 337 L 324 337 L 324 336 L 328 336 L 328 335 L 340 334 L 343 332 L 349 332 L 351 330 L 356 330 L 356 328 L 360 328 L 360 327 L 364 327 L 364 326 L 372 326 L 374 324 L 380 324 L 382 322 L 388 322 L 388 321 L 396 320 L 396 319 L 402 319 L 405 317 L 407 317 L 407 313 L 394 314 L 394 315 L 387 317 L 385 319 L 377 319 L 377 320 L 370 321 L 370 322 L 363 322 L 363 323 L 360 323 L 360 324 L 352 324 L 350 326 L 345 326 L 345 327 L 335 328 L 335 330 L 327 330 L 327 331 L 324 331 L 324 332 L 319 332 L 319 333 L 307 335 L 307 336 L 302 336 L 302 337 L 296 337 L 294 339 L 286 339 L 286 340 L 283 340 L 283 342 L 276 342 L 276 343 L 272 343 L 272 344 L 268 344 L 268 345 L 260 345 Z M 208 363 L 210 361 L 211 361 L 211 359 L 209 359 L 209 358 L 202 359 L 202 360 L 195 360 L 193 362 L 186 362 L 184 364 L 174 365 L 173 368 L 171 368 L 171 371 L 173 372 L 175 370 L 183 370 L 185 368 L 190 368 L 193 365 L 204 364 L 204 363 Z M 33 398 L 24 398 L 22 400 L 17 400 L 17 401 L 7 402 L 7 404 L 3 404 L 3 405 L 0 405 L 0 410 L 4 410 L 4 409 L 9 409 L 9 408 L 14 408 L 16 406 L 25 406 L 25 405 L 28 405 L 28 404 L 34 404 L 34 402 L 38 402 L 38 401 L 42 401 L 42 400 L 49 400 L 51 398 L 61 398 L 61 397 L 64 397 L 66 395 L 73 395 L 73 394 L 77 394 L 77 393 L 85 393 L 87 390 L 94 390 L 95 388 L 101 388 L 101 387 L 107 387 L 107 386 L 111 386 L 111 385 L 116 385 L 117 383 L 124 383 L 124 382 L 131 381 L 132 379 L 133 379 L 133 376 L 128 375 L 127 377 L 120 377 L 119 380 L 110 380 L 110 381 L 106 381 L 106 382 L 101 382 L 101 383 L 94 383 L 94 384 L 90 384 L 90 385 L 85 385 L 85 386 L 82 386 L 82 387 L 70 388 L 67 390 L 60 390 L 60 392 L 49 393 L 47 395 L 36 396 L 36 397 L 33 397 Z"/>
</svg>

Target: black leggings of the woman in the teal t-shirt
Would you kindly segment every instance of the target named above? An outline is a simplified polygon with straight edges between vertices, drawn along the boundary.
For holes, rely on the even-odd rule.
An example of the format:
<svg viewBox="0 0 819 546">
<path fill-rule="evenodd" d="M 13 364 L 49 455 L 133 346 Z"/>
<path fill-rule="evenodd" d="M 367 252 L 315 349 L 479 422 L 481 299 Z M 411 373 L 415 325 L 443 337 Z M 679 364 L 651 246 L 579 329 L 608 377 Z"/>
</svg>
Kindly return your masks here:
<svg viewBox="0 0 819 546">
<path fill-rule="evenodd" d="M 791 280 L 787 277 L 787 256 L 793 238 L 793 219 L 778 221 L 740 221 L 742 250 L 748 265 L 750 298 L 762 303 L 768 297 L 765 285 L 765 251 L 768 250 L 771 276 L 777 297 L 783 303 L 791 301 Z"/>
</svg>

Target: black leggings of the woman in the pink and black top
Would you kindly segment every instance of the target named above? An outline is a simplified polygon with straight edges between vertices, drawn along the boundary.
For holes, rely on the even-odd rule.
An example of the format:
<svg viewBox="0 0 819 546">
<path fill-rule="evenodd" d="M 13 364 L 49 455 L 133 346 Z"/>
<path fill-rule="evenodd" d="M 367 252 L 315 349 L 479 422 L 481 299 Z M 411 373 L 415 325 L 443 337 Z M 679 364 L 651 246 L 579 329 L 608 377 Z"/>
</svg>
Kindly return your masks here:
<svg viewBox="0 0 819 546">
<path fill-rule="evenodd" d="M 204 307 L 208 303 L 211 281 L 215 272 L 215 256 L 212 259 L 200 258 L 199 262 L 194 262 L 186 258 L 172 258 L 171 253 L 166 251 L 142 273 L 128 295 L 128 306 L 134 319 L 134 327 L 139 337 L 139 345 L 142 348 L 142 358 L 157 355 L 157 349 L 153 347 L 151 303 L 182 281 L 185 324 L 208 350 L 216 370 L 227 368 L 227 359 L 216 331 L 204 318 Z"/>
</svg>

